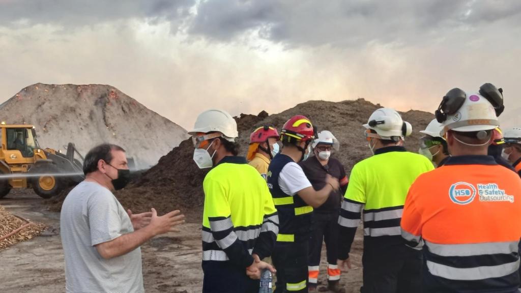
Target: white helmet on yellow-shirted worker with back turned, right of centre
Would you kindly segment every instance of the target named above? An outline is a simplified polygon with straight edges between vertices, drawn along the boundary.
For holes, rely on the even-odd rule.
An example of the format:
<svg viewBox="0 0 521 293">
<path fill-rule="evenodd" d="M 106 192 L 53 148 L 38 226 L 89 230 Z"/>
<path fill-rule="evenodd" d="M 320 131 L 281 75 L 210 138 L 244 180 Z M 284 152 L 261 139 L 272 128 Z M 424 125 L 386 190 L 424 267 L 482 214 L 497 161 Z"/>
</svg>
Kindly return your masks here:
<svg viewBox="0 0 521 293">
<path fill-rule="evenodd" d="M 375 130 L 382 139 L 391 139 L 392 137 L 403 139 L 413 132 L 412 125 L 403 121 L 402 116 L 391 108 L 380 108 L 373 112 L 364 127 Z"/>
</svg>

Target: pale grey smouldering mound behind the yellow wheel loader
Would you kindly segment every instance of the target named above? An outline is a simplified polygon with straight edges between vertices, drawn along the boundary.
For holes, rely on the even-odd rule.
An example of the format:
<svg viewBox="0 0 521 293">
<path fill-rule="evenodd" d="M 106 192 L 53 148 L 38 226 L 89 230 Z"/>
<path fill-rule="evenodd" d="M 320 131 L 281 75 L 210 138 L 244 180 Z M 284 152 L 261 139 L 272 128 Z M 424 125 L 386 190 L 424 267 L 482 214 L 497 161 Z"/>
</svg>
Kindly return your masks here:
<svg viewBox="0 0 521 293">
<path fill-rule="evenodd" d="M 103 142 L 121 145 L 138 169 L 188 138 L 179 125 L 103 84 L 33 84 L 0 105 L 0 116 L 7 124 L 34 125 L 42 148 L 66 151 L 73 142 L 86 155 Z"/>
</svg>

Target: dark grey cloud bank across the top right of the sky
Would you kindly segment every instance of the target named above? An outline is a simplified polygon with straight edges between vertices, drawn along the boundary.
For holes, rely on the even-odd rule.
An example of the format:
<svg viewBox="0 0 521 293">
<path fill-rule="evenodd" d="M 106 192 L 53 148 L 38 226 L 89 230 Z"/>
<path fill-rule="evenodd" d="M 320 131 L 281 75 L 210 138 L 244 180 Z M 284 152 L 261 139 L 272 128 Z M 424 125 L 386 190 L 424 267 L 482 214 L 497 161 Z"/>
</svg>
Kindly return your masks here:
<svg viewBox="0 0 521 293">
<path fill-rule="evenodd" d="M 415 43 L 426 36 L 510 19 L 518 1 L 219 0 L 202 2 L 189 32 L 230 41 L 245 31 L 288 45 Z M 419 39 L 419 40 L 418 40 Z"/>
</svg>

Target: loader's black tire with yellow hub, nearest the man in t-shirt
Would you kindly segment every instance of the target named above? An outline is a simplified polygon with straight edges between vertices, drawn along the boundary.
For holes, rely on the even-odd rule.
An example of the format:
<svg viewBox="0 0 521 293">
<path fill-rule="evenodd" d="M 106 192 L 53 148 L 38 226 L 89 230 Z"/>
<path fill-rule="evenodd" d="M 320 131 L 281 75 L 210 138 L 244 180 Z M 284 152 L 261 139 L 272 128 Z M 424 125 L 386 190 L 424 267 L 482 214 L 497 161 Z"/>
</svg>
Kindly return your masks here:
<svg viewBox="0 0 521 293">
<path fill-rule="evenodd" d="M 30 173 L 33 174 L 56 174 L 59 169 L 52 164 L 34 166 Z M 64 189 L 64 181 L 60 177 L 42 175 L 31 178 L 31 185 L 36 194 L 41 198 L 48 199 L 56 196 Z"/>
</svg>

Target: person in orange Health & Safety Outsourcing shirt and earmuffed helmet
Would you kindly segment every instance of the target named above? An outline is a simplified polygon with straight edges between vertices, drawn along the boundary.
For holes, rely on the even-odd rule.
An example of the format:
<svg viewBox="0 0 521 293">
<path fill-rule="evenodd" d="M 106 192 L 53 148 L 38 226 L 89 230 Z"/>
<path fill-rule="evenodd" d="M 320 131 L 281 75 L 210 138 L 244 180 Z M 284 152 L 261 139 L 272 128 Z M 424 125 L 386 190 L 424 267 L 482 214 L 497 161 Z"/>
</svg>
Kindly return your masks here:
<svg viewBox="0 0 521 293">
<path fill-rule="evenodd" d="M 423 292 L 518 292 L 521 179 L 487 155 L 503 111 L 500 89 L 454 88 L 436 111 L 451 159 L 420 175 L 402 237 L 423 245 Z"/>
</svg>

